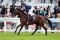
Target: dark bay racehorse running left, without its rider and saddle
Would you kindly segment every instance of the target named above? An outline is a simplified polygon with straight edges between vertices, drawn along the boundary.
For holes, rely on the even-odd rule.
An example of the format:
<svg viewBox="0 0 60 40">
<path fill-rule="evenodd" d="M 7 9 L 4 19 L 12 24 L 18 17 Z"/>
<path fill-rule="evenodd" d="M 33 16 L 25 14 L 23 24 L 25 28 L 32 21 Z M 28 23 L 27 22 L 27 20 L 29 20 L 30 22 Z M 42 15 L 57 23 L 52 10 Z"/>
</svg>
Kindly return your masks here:
<svg viewBox="0 0 60 40">
<path fill-rule="evenodd" d="M 35 20 L 34 21 L 29 21 L 28 20 L 28 15 L 26 13 L 24 13 L 24 11 L 22 11 L 20 9 L 17 9 L 17 8 L 14 11 L 14 16 L 16 16 L 16 15 L 19 16 L 20 22 L 21 22 L 21 24 L 19 24 L 17 26 L 16 30 L 15 30 L 15 33 L 16 33 L 17 29 L 21 26 L 21 28 L 20 28 L 20 30 L 18 32 L 18 35 L 20 34 L 20 31 L 22 30 L 24 25 L 28 26 L 28 25 L 32 25 L 32 24 L 36 24 L 36 29 L 32 33 L 32 35 L 34 35 L 34 33 L 38 30 L 38 26 L 43 27 L 44 30 L 45 30 L 45 34 L 47 35 L 47 28 L 44 26 L 45 20 L 47 20 L 48 23 L 50 25 L 52 25 L 52 22 L 49 19 L 47 19 L 47 18 L 45 18 L 43 16 L 40 16 L 40 15 L 34 15 L 35 16 Z"/>
</svg>

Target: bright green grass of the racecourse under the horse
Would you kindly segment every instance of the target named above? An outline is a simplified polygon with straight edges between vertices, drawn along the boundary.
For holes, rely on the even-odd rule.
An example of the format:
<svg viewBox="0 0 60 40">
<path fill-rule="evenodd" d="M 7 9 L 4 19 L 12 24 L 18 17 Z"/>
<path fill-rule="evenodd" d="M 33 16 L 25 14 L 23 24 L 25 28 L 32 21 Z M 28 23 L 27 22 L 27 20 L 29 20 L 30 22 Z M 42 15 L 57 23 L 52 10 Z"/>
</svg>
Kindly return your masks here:
<svg viewBox="0 0 60 40">
<path fill-rule="evenodd" d="M 60 33 L 44 33 L 36 32 L 33 36 L 31 33 L 24 32 L 17 36 L 14 33 L 0 32 L 0 40 L 60 40 Z"/>
</svg>

